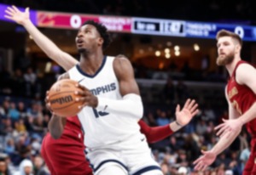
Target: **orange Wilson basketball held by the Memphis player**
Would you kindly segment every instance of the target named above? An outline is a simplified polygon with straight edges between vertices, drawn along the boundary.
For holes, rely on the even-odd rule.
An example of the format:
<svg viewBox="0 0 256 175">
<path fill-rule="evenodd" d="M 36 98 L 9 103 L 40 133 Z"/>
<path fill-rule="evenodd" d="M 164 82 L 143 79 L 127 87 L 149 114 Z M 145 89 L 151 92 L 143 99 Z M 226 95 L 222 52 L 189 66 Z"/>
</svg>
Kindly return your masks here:
<svg viewBox="0 0 256 175">
<path fill-rule="evenodd" d="M 70 79 L 62 79 L 49 89 L 50 108 L 57 116 L 76 116 L 81 110 L 79 105 L 83 103 L 75 101 L 79 95 L 74 92 L 81 90 L 75 86 L 77 83 Z"/>
</svg>

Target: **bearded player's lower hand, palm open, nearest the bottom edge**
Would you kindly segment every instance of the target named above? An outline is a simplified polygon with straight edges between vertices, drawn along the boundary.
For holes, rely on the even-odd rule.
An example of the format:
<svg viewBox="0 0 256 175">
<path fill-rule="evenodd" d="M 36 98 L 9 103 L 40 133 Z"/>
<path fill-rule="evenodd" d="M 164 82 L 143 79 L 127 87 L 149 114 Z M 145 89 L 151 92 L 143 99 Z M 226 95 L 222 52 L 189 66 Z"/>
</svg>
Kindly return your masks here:
<svg viewBox="0 0 256 175">
<path fill-rule="evenodd" d="M 201 157 L 199 157 L 197 160 L 195 160 L 193 162 L 193 164 L 195 165 L 195 170 L 198 171 L 204 171 L 207 169 L 208 166 L 210 166 L 213 161 L 215 161 L 216 159 L 216 154 L 214 154 L 212 151 L 207 150 L 201 150 L 201 153 L 203 155 L 201 155 Z"/>
</svg>

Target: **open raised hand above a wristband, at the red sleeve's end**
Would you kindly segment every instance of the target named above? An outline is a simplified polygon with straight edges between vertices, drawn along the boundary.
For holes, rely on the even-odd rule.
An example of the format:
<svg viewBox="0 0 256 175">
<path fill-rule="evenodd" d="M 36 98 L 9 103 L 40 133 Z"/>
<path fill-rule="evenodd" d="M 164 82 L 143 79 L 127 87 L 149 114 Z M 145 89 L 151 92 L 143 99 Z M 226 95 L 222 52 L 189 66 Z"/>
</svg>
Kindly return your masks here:
<svg viewBox="0 0 256 175">
<path fill-rule="evenodd" d="M 176 121 L 178 124 L 185 126 L 191 121 L 191 119 L 198 113 L 198 104 L 195 103 L 195 99 L 187 99 L 186 103 L 183 106 L 183 109 L 180 110 L 180 105 L 177 104 L 176 107 Z"/>
</svg>

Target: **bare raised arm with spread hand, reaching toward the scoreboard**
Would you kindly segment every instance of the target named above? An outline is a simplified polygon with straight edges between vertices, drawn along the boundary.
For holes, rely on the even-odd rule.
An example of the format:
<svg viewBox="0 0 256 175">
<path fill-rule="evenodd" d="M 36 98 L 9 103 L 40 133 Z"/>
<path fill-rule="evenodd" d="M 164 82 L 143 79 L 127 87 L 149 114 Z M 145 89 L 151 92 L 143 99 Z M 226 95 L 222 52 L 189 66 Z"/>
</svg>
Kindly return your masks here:
<svg viewBox="0 0 256 175">
<path fill-rule="evenodd" d="M 45 37 L 38 28 L 32 24 L 29 18 L 29 8 L 26 8 L 25 12 L 20 12 L 15 6 L 8 7 L 5 10 L 5 18 L 14 20 L 16 23 L 23 25 L 26 31 L 32 36 L 33 40 L 38 44 L 45 54 L 50 59 L 53 59 L 57 64 L 61 65 L 66 71 L 70 70 L 73 65 L 78 63 L 78 60 L 74 59 L 70 54 L 61 51 L 54 42 Z"/>
</svg>

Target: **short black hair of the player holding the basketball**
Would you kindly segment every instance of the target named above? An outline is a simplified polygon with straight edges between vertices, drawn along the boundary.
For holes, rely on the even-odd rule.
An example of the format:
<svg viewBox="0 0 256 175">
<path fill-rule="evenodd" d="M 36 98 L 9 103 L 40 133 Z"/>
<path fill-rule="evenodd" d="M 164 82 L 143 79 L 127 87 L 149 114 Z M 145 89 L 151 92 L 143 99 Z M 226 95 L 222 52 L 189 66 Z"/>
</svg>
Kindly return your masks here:
<svg viewBox="0 0 256 175">
<path fill-rule="evenodd" d="M 94 20 L 86 20 L 83 25 L 95 26 L 96 30 L 99 32 L 99 34 L 101 35 L 101 37 L 103 38 L 103 41 L 104 41 L 103 45 L 102 45 L 102 49 L 105 50 L 106 48 L 108 48 L 110 42 L 112 42 L 112 39 L 111 39 L 111 37 L 108 33 L 108 29 L 105 25 L 102 25 L 101 23 L 97 23 Z"/>
</svg>

